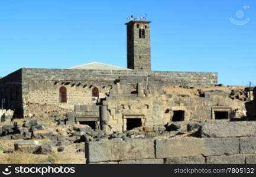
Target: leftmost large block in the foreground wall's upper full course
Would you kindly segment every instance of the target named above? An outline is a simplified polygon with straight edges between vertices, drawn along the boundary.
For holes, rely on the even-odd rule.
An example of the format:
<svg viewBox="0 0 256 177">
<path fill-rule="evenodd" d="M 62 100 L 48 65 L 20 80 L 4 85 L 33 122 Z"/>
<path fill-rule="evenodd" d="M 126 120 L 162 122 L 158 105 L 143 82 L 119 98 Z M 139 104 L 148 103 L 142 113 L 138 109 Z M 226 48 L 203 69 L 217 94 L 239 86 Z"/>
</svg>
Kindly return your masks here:
<svg viewBox="0 0 256 177">
<path fill-rule="evenodd" d="M 88 163 L 155 158 L 154 139 L 101 140 L 86 142 L 85 147 Z"/>
</svg>

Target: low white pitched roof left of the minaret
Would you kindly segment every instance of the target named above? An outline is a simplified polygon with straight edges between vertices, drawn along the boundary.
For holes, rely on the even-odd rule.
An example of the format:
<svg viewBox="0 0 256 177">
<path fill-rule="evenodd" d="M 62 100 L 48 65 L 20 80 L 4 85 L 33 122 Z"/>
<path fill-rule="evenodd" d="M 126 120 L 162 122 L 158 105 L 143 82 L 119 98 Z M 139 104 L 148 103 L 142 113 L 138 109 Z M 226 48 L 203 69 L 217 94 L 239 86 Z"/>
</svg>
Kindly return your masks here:
<svg viewBox="0 0 256 177">
<path fill-rule="evenodd" d="M 115 65 L 99 63 L 99 62 L 92 62 L 92 63 L 82 64 L 82 65 L 77 65 L 68 69 L 70 70 L 131 70 L 128 68 L 118 67 Z"/>
</svg>

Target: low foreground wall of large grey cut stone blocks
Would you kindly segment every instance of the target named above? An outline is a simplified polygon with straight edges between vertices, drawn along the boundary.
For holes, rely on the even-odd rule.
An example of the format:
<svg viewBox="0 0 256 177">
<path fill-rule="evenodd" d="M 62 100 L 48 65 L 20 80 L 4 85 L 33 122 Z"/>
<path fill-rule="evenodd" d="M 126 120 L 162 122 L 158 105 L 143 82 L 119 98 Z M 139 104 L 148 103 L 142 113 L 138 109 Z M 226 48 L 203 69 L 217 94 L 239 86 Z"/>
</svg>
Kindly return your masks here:
<svg viewBox="0 0 256 177">
<path fill-rule="evenodd" d="M 86 142 L 86 163 L 255 164 L 256 122 L 229 123 L 206 122 L 199 130 L 201 137 Z"/>
</svg>

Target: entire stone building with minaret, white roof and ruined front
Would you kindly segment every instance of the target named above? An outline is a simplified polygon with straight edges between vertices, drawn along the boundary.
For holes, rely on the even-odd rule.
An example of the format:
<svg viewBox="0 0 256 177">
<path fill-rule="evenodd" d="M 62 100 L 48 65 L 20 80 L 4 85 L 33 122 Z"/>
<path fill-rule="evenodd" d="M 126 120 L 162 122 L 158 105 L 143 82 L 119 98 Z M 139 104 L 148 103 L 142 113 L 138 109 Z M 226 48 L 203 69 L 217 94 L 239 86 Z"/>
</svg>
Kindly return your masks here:
<svg viewBox="0 0 256 177">
<path fill-rule="evenodd" d="M 245 110 L 247 97 L 210 89 L 218 84 L 218 73 L 151 71 L 150 22 L 126 25 L 128 68 L 102 63 L 21 68 L 0 79 L 2 108 L 14 110 L 15 117 L 63 110 L 67 123 L 110 132 L 169 121 L 229 120 L 234 110 Z"/>
</svg>

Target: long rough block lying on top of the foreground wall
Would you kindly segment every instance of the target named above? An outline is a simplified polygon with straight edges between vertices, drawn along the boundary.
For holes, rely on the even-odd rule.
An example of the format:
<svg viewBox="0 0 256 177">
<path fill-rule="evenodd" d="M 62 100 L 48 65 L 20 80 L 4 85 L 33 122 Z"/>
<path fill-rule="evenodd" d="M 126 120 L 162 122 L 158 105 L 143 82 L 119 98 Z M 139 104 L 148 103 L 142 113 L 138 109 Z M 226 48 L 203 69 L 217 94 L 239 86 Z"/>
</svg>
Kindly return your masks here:
<svg viewBox="0 0 256 177">
<path fill-rule="evenodd" d="M 256 122 L 205 122 L 199 132 L 201 137 L 256 136 Z"/>
</svg>

